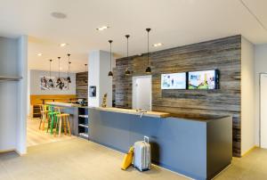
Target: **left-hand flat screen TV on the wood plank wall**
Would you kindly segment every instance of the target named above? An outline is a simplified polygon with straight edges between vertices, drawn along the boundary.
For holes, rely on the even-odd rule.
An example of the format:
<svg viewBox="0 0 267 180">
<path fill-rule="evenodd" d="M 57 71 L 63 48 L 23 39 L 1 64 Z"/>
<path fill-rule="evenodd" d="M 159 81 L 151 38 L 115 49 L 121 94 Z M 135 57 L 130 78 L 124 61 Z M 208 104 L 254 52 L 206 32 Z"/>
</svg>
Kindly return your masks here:
<svg viewBox="0 0 267 180">
<path fill-rule="evenodd" d="M 162 74 L 161 89 L 186 89 L 186 73 Z"/>
</svg>

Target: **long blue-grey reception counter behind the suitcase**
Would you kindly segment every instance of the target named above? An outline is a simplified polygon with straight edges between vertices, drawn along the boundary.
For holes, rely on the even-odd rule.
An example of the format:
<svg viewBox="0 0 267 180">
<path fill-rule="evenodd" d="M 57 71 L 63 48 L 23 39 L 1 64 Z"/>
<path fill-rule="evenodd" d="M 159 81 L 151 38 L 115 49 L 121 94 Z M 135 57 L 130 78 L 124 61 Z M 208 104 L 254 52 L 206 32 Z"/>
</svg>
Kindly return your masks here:
<svg viewBox="0 0 267 180">
<path fill-rule="evenodd" d="M 182 119 L 146 115 L 114 108 L 71 107 L 74 128 L 78 113 L 87 110 L 88 139 L 126 152 L 143 136 L 150 137 L 151 160 L 184 176 L 211 179 L 231 164 L 232 119 Z"/>
</svg>

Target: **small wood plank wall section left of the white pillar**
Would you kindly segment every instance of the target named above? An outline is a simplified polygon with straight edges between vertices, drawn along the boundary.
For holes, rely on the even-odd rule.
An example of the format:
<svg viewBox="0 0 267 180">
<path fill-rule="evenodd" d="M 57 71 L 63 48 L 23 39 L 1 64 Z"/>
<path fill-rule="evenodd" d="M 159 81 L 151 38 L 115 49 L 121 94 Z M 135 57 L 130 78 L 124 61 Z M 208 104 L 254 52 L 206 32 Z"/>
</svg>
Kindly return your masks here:
<svg viewBox="0 0 267 180">
<path fill-rule="evenodd" d="M 88 98 L 88 71 L 76 74 L 77 98 Z"/>
</svg>

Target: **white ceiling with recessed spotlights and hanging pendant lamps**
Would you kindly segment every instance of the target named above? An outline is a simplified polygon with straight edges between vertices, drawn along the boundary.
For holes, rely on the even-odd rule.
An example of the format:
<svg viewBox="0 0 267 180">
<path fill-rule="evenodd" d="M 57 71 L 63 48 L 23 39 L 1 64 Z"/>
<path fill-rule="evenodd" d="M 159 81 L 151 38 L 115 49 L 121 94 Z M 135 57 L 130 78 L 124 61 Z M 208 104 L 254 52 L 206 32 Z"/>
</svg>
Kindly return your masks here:
<svg viewBox="0 0 267 180">
<path fill-rule="evenodd" d="M 243 0 L 267 27 L 267 1 Z M 84 71 L 88 53 L 101 49 L 125 56 L 125 34 L 130 34 L 130 55 L 242 34 L 254 44 L 267 43 L 267 29 L 239 0 L 0 0 L 0 36 L 28 35 L 29 69 L 49 70 L 49 59 L 71 53 L 72 70 Z M 57 20 L 51 12 L 64 12 Z M 97 31 L 101 25 L 111 28 Z M 60 43 L 68 43 L 60 47 Z M 39 57 L 36 54 L 43 53 Z M 57 62 L 54 61 L 57 64 Z M 57 65 L 53 67 L 57 70 Z"/>
</svg>

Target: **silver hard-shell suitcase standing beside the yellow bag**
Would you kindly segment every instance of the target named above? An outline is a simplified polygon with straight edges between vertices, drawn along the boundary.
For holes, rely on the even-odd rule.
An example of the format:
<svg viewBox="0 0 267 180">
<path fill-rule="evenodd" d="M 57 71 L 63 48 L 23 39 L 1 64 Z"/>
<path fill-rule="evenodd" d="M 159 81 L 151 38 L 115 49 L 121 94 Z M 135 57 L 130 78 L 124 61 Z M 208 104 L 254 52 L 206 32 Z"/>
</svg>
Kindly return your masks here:
<svg viewBox="0 0 267 180">
<path fill-rule="evenodd" d="M 149 137 L 144 137 L 144 141 L 134 143 L 134 168 L 140 171 L 150 170 L 151 154 Z"/>
</svg>

